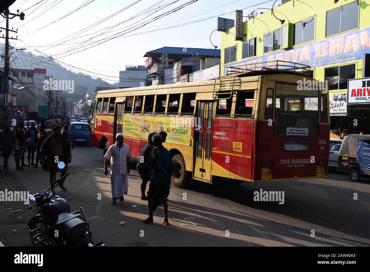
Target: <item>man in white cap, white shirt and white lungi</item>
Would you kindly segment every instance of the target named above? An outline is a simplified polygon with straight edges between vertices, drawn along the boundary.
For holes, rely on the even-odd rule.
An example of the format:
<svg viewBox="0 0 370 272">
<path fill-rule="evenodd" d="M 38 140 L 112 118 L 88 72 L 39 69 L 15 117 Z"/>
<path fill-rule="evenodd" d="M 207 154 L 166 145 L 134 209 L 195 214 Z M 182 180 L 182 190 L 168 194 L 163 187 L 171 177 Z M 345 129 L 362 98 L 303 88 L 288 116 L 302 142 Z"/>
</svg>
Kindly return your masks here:
<svg viewBox="0 0 370 272">
<path fill-rule="evenodd" d="M 108 175 L 108 159 L 111 159 L 112 205 L 117 205 L 116 199 L 124 201 L 128 189 L 128 174 L 130 173 L 131 152 L 123 142 L 123 134 L 116 135 L 116 143 L 111 145 L 104 156 L 104 175 Z"/>
</svg>

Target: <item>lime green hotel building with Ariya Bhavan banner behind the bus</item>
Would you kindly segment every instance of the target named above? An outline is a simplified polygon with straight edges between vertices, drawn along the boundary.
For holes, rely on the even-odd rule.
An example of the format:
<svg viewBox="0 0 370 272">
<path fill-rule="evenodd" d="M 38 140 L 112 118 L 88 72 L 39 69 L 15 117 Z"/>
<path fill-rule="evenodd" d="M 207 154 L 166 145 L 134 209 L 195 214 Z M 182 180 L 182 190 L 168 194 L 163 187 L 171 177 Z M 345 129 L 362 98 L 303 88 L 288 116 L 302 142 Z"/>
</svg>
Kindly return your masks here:
<svg viewBox="0 0 370 272">
<path fill-rule="evenodd" d="M 347 80 L 370 77 L 370 1 L 283 0 L 261 11 L 237 11 L 235 23 L 243 23 L 221 33 L 221 76 L 276 60 L 310 66 L 314 79 L 327 81 L 331 128 L 370 134 L 370 81 L 367 98 L 347 104 Z"/>
</svg>

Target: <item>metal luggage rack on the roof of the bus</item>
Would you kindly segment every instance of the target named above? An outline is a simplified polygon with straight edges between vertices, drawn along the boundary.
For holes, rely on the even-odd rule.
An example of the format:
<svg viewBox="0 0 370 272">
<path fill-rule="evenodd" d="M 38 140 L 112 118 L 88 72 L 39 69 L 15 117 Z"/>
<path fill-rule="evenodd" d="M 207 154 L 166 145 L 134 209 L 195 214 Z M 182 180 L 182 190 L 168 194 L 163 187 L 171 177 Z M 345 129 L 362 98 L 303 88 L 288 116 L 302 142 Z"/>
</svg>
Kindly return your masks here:
<svg viewBox="0 0 370 272">
<path fill-rule="evenodd" d="M 249 67 L 249 68 L 246 68 Z M 274 60 L 274 61 L 264 61 L 264 62 L 257 62 L 252 64 L 244 64 L 244 65 L 237 65 L 237 66 L 229 66 L 226 67 L 226 75 L 238 74 L 238 73 L 245 73 L 246 75 L 250 72 L 254 72 L 255 74 L 258 71 L 262 71 L 262 73 L 266 70 L 270 71 L 278 71 L 278 72 L 292 72 L 292 73 L 303 73 L 306 75 L 311 75 L 311 66 L 295 63 L 290 61 L 284 60 Z M 261 73 L 261 74 L 262 74 Z"/>
</svg>

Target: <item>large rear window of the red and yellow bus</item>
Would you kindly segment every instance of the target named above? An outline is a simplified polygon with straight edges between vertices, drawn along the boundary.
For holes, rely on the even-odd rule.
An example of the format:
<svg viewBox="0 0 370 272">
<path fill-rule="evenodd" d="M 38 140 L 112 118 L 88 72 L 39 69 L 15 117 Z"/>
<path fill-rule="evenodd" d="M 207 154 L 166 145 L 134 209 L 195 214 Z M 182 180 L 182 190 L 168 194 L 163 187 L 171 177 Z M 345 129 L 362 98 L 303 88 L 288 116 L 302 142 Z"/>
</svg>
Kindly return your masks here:
<svg viewBox="0 0 370 272">
<path fill-rule="evenodd" d="M 319 91 L 297 90 L 297 85 L 276 84 L 275 135 L 319 135 Z"/>
</svg>

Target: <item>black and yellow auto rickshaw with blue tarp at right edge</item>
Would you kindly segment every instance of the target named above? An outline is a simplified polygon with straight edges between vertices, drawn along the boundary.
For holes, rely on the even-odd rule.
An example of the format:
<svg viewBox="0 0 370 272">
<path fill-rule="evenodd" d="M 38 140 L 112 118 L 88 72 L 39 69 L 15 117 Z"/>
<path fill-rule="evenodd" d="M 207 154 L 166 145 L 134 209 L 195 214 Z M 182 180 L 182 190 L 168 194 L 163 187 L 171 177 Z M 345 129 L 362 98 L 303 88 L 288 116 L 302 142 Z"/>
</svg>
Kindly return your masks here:
<svg viewBox="0 0 370 272">
<path fill-rule="evenodd" d="M 339 149 L 338 166 L 347 168 L 351 181 L 370 178 L 370 135 L 350 134 L 344 137 Z"/>
</svg>

